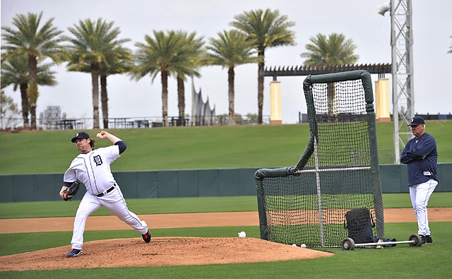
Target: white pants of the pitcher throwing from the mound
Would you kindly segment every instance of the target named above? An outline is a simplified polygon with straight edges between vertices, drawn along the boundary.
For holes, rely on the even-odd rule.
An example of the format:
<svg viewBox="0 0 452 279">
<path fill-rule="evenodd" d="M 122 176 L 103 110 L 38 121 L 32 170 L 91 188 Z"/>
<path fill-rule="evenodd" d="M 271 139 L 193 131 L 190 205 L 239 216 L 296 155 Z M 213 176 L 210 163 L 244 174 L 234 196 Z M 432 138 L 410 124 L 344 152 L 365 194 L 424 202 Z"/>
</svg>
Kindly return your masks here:
<svg viewBox="0 0 452 279">
<path fill-rule="evenodd" d="M 78 206 L 76 219 L 73 222 L 72 249 L 82 249 L 86 219 L 91 213 L 102 206 L 114 213 L 114 215 L 117 215 L 120 220 L 126 222 L 127 225 L 131 226 L 141 235 L 148 232 L 146 222 L 140 220 L 135 213 L 127 208 L 126 200 L 119 186 L 115 186 L 113 191 L 101 197 L 86 192 Z"/>
</svg>

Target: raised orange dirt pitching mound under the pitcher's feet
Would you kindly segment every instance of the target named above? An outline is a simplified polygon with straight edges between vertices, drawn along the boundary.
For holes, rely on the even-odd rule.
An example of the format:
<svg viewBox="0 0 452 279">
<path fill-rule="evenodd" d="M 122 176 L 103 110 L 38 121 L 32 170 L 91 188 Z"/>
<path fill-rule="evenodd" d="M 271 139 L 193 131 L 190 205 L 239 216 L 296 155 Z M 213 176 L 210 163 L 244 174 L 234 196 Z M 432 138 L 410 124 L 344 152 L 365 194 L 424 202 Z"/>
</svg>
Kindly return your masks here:
<svg viewBox="0 0 452 279">
<path fill-rule="evenodd" d="M 70 246 L 0 257 L 0 271 L 105 268 L 118 266 L 189 266 L 314 259 L 333 254 L 239 237 L 155 237 L 86 242 L 83 254 L 66 258 Z M 118 261 L 118 256 L 121 261 Z M 68 264 L 68 263 L 71 264 Z"/>
</svg>

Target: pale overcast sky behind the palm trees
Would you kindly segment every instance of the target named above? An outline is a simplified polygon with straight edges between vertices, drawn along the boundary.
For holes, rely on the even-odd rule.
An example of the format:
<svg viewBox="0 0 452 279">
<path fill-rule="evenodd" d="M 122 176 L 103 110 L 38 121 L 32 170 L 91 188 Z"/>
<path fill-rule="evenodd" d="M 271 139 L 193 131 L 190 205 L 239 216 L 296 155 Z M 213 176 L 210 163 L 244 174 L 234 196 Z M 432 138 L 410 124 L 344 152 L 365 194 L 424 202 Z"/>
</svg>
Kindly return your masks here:
<svg viewBox="0 0 452 279">
<path fill-rule="evenodd" d="M 318 33 L 343 33 L 357 45 L 357 64 L 391 63 L 391 17 L 380 16 L 377 8 L 386 0 L 1 0 L 1 26 L 13 28 L 12 18 L 18 13 L 40 13 L 43 23 L 54 18 L 54 25 L 66 35 L 68 27 L 79 20 L 103 18 L 114 21 L 120 28 L 120 38 L 129 38 L 126 44 L 136 50 L 136 42 L 144 42 L 153 30 L 184 30 L 196 32 L 206 41 L 218 37 L 222 30 L 230 30 L 234 16 L 257 8 L 278 9 L 295 22 L 294 47 L 266 49 L 266 66 L 299 66 L 309 38 Z M 448 114 L 452 112 L 452 1 L 413 0 L 412 28 L 414 36 L 414 93 L 415 112 L 420 114 Z M 57 105 L 69 118 L 93 117 L 91 77 L 89 73 L 67 72 L 66 64 L 55 66 L 58 85 L 40 87 L 37 116 L 47 106 Z M 257 114 L 257 65 L 242 65 L 235 69 L 235 112 Z M 201 88 L 203 99 L 215 105 L 216 114 L 227 114 L 227 69 L 210 66 L 201 69 L 201 78 L 195 78 L 196 90 Z M 387 75 L 388 77 L 389 75 Z M 305 77 L 278 78 L 281 81 L 283 123 L 298 120 L 298 113 L 306 113 L 302 92 Z M 378 77 L 373 75 L 376 80 Z M 270 115 L 269 83 L 264 81 L 263 114 Z M 391 86 L 390 86 L 391 87 Z M 185 112 L 191 112 L 191 81 L 187 82 Z M 169 81 L 169 116 L 177 116 L 177 87 L 174 78 Z M 391 90 L 391 89 L 390 89 Z M 154 83 L 150 76 L 131 81 L 128 76 L 109 76 L 110 117 L 160 117 L 162 114 L 160 75 Z M 5 93 L 20 105 L 20 93 L 13 87 Z M 102 115 L 101 115 L 102 117 Z"/>
</svg>

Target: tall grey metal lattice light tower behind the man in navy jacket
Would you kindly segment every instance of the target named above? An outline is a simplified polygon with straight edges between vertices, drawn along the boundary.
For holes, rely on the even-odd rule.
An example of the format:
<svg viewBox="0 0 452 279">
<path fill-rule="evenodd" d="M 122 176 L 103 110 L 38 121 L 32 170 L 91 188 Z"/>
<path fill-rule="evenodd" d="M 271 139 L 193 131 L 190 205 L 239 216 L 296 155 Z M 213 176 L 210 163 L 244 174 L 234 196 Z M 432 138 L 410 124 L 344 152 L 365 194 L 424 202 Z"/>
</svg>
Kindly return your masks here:
<svg viewBox="0 0 452 279">
<path fill-rule="evenodd" d="M 384 16 L 391 13 L 391 64 L 393 77 L 394 163 L 400 164 L 400 149 L 412 138 L 408 129 L 415 116 L 414 71 L 412 64 L 411 0 L 391 0 L 379 8 Z"/>
</svg>

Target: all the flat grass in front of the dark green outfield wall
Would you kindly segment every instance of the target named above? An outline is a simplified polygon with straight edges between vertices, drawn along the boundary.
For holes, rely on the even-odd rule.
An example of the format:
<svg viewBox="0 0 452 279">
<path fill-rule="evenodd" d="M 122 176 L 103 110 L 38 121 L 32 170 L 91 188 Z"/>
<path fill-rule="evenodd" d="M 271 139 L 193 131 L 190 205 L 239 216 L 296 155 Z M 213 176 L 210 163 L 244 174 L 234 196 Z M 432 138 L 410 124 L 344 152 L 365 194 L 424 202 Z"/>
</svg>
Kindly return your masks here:
<svg viewBox="0 0 452 279">
<path fill-rule="evenodd" d="M 452 193 L 434 193 L 429 206 L 451 206 Z M 257 210 L 256 197 L 225 198 L 157 198 L 131 199 L 129 208 L 138 214 L 189 213 L 215 211 Z M 383 194 L 385 208 L 410 207 L 408 194 Z M 0 203 L 1 218 L 29 218 L 35 211 L 41 217 L 73 215 L 78 202 Z M 59 213 L 56 213 L 59 212 Z M 61 212 L 63 212 L 61 214 Z M 100 214 L 99 214 L 100 213 Z M 107 213 L 105 211 L 104 213 Z M 99 210 L 94 215 L 105 215 Z M 107 213 L 108 214 L 108 213 Z M 413 213 L 414 214 L 414 213 Z M 152 227 L 152 225 L 150 225 Z M 206 266 L 165 266 L 144 268 L 95 268 L 61 271 L 1 272 L 0 278 L 448 278 L 452 268 L 452 222 L 432 222 L 434 244 L 422 247 L 376 249 L 319 249 L 335 256 L 324 259 L 278 261 L 272 263 L 242 263 Z M 259 238 L 258 226 L 201 227 L 154 229 L 154 237 L 237 237 L 246 231 L 247 237 Z M 417 231 L 416 223 L 387 223 L 385 237 L 408 240 Z M 85 242 L 98 239 L 136 237 L 133 230 L 87 231 Z M 0 235 L 0 256 L 68 245 L 71 232 L 39 232 Z M 118 256 L 118 261 L 120 255 Z M 415 261 L 429 264 L 413 264 Z M 386 267 L 386 268 L 378 268 Z"/>
</svg>

